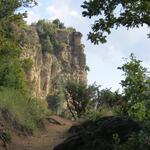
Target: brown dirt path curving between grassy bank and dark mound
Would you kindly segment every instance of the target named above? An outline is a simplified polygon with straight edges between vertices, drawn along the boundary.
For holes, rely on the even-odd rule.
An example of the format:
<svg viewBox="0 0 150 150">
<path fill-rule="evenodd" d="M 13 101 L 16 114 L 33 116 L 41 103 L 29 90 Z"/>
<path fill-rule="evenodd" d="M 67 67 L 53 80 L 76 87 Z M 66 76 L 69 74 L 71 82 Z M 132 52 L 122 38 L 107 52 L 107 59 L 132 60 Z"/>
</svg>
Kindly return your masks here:
<svg viewBox="0 0 150 150">
<path fill-rule="evenodd" d="M 55 123 L 47 124 L 46 131 L 38 133 L 34 137 L 21 137 L 13 136 L 13 142 L 9 146 L 10 150 L 53 150 L 53 148 L 61 143 L 68 137 L 68 129 L 74 124 L 74 122 L 60 118 L 58 116 L 52 116 L 52 119 L 61 123 L 61 125 Z"/>
</svg>

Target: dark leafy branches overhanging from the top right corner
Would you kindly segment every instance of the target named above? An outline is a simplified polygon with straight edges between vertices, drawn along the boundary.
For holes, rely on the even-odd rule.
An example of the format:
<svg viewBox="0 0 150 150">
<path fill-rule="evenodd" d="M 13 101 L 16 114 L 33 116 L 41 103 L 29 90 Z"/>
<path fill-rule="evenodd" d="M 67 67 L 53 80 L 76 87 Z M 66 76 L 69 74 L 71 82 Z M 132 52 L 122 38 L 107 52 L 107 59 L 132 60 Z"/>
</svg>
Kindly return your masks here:
<svg viewBox="0 0 150 150">
<path fill-rule="evenodd" d="M 111 29 L 150 26 L 149 0 L 89 0 L 82 5 L 84 17 L 97 17 L 88 39 L 92 43 L 105 43 Z"/>
</svg>

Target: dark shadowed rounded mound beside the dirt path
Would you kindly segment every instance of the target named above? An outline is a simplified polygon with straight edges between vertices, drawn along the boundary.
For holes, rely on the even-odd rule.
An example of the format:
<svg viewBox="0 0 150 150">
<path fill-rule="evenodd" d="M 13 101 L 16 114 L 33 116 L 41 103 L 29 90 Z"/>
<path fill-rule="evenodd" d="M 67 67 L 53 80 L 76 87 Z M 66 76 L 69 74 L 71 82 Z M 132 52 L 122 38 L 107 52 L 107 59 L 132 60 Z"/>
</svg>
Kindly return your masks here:
<svg viewBox="0 0 150 150">
<path fill-rule="evenodd" d="M 116 140 L 122 144 L 132 133 L 142 129 L 140 123 L 129 117 L 104 117 L 87 121 L 70 129 L 73 136 L 66 139 L 54 150 L 113 150 Z"/>
</svg>

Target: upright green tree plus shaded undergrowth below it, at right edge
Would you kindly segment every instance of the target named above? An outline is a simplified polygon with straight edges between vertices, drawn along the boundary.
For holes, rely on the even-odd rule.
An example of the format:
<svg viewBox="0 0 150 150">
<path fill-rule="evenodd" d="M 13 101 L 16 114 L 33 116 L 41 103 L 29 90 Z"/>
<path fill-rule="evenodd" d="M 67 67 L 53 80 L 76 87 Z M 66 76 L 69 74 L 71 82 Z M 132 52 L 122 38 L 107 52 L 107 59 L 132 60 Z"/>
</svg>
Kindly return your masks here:
<svg viewBox="0 0 150 150">
<path fill-rule="evenodd" d="M 122 67 L 125 79 L 121 81 L 123 98 L 117 106 L 119 114 L 128 115 L 140 122 L 144 128 L 133 134 L 126 143 L 119 144 L 118 150 L 148 150 L 150 149 L 150 81 L 148 71 L 141 61 L 131 54 Z"/>
</svg>

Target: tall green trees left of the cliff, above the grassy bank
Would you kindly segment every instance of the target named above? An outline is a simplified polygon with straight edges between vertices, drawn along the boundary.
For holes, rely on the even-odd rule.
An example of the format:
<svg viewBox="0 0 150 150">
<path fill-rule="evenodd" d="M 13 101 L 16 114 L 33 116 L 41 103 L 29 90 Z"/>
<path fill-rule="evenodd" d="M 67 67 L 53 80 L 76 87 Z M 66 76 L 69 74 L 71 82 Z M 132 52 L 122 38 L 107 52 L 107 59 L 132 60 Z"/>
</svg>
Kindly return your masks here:
<svg viewBox="0 0 150 150">
<path fill-rule="evenodd" d="M 0 0 L 0 86 L 26 89 L 26 78 L 15 28 L 24 24 L 25 13 L 17 13 L 20 7 L 32 7 L 35 0 Z"/>
</svg>

